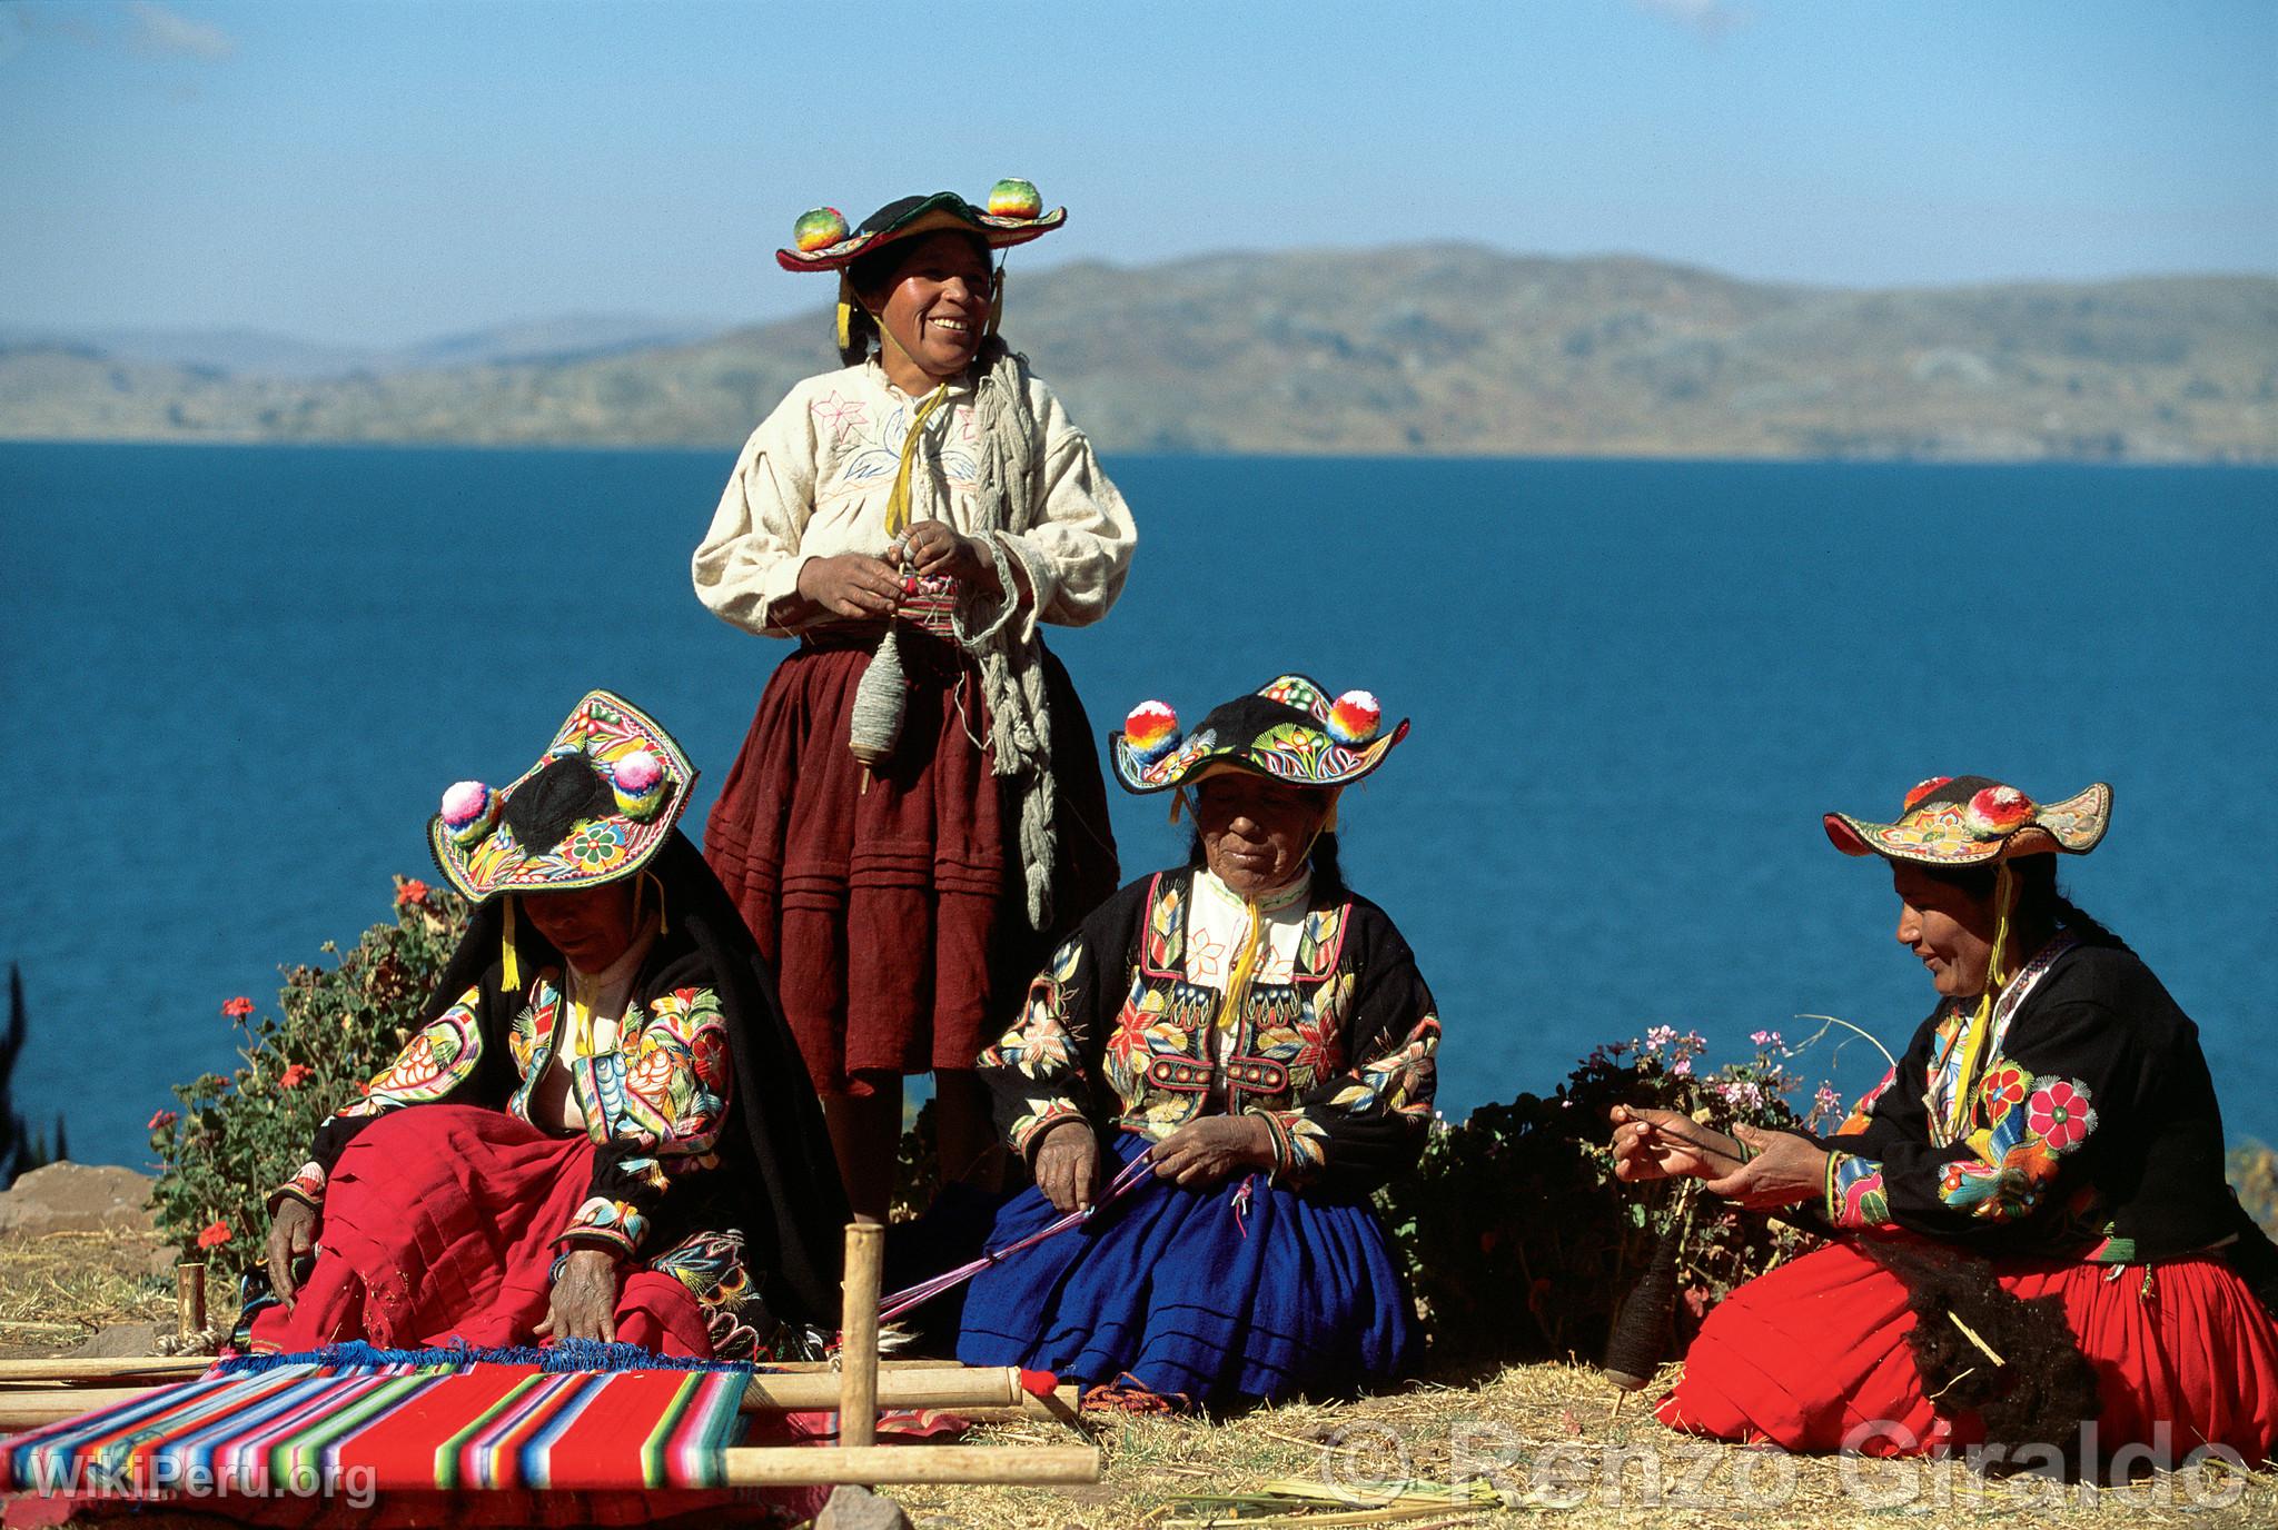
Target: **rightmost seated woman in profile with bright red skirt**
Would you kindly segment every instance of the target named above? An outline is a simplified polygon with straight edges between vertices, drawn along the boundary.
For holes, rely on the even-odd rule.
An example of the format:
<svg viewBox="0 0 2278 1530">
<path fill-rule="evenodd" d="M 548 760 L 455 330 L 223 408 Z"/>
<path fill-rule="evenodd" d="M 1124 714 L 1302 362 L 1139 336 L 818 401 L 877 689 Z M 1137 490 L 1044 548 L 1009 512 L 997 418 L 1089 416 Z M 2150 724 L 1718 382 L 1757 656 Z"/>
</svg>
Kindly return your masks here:
<svg viewBox="0 0 2278 1530">
<path fill-rule="evenodd" d="M 1615 1109 L 1620 1177 L 1836 1234 L 1708 1314 L 1665 1423 L 2091 1473 L 2278 1446 L 2273 1250 L 2223 1182 L 2198 1029 L 2057 890 L 2055 852 L 2093 849 L 2109 808 L 2103 783 L 2043 806 L 1936 776 L 1895 822 L 1827 815 L 1891 865 L 1939 1006 L 1827 1138 Z"/>
</svg>

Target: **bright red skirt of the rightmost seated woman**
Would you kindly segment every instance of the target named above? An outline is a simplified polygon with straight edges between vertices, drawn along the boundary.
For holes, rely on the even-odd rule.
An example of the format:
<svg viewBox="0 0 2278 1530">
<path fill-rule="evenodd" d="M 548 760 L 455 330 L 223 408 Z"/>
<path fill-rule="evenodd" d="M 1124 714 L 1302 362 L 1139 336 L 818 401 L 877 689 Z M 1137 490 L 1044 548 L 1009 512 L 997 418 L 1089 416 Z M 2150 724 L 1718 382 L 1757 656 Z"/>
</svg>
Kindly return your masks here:
<svg viewBox="0 0 2278 1530">
<path fill-rule="evenodd" d="M 2278 1446 L 2278 1327 L 2219 1257 L 2150 1266 L 1996 1266 L 2016 1298 L 2057 1295 L 2096 1368 L 2096 1457 L 2148 1446 L 2175 1464 L 2198 1446 L 2246 1462 Z M 1925 1455 L 1977 1443 L 1973 1416 L 1923 1396 L 1907 1284 L 1854 1243 L 1832 1243 L 1724 1298 L 1686 1352 L 1661 1421 L 1786 1450 Z"/>
</svg>

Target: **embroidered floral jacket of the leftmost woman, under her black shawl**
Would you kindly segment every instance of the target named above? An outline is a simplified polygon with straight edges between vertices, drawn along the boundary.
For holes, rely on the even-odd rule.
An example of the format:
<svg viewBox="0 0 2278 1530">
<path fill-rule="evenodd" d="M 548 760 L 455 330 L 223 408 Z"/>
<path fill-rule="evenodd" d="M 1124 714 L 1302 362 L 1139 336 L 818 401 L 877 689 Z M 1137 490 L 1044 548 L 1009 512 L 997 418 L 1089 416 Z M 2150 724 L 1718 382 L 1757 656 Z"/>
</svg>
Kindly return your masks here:
<svg viewBox="0 0 2278 1530">
<path fill-rule="evenodd" d="M 321 1207 L 342 1150 L 385 1111 L 453 1102 L 531 1120 L 531 1095 L 565 1045 L 572 1013 L 558 959 L 522 965 L 517 977 L 508 990 L 503 961 L 494 959 L 435 1013 L 364 1086 L 362 1100 L 317 1127 L 308 1163 L 271 1204 L 289 1195 Z M 708 1229 L 702 1182 L 718 1166 L 734 1091 L 727 1027 L 704 959 L 663 943 L 652 949 L 615 1040 L 592 1056 L 565 1059 L 565 1068 L 595 1159 L 588 1195 L 556 1243 L 611 1248 L 642 1261 L 667 1250 L 693 1257 L 677 1245 L 697 1243 Z"/>
</svg>

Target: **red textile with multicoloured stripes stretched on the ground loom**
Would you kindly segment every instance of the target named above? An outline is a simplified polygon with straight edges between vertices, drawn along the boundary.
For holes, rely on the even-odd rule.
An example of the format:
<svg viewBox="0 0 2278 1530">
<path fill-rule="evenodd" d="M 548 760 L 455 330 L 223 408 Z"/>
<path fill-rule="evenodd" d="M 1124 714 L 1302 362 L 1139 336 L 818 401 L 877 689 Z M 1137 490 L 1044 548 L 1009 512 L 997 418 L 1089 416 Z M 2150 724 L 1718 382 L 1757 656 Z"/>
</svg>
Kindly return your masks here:
<svg viewBox="0 0 2278 1530">
<path fill-rule="evenodd" d="M 743 1439 L 743 1389 L 734 1371 L 292 1364 L 162 1387 L 0 1441 L 0 1491 L 718 1487 L 720 1453 Z"/>
</svg>

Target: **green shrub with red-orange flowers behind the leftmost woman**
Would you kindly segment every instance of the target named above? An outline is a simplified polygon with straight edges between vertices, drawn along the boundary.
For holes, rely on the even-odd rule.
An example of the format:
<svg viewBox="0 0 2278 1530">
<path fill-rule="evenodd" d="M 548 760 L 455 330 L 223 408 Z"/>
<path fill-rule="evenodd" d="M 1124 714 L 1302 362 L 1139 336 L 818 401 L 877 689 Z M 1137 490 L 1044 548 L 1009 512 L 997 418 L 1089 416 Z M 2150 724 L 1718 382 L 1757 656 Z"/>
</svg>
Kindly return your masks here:
<svg viewBox="0 0 2278 1530">
<path fill-rule="evenodd" d="M 410 1038 L 465 927 L 462 897 L 396 877 L 394 922 L 367 929 L 335 968 L 287 970 L 278 1015 L 253 1000 L 223 1004 L 244 1034 L 244 1066 L 175 1084 L 182 1109 L 150 1118 L 153 1202 L 185 1257 L 226 1280 L 260 1264 L 269 1191 L 308 1159 L 317 1125 Z M 337 952 L 330 940 L 323 949 Z"/>
</svg>

